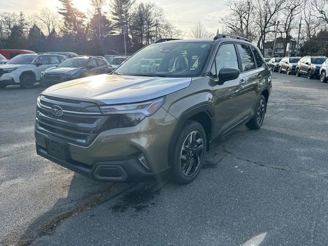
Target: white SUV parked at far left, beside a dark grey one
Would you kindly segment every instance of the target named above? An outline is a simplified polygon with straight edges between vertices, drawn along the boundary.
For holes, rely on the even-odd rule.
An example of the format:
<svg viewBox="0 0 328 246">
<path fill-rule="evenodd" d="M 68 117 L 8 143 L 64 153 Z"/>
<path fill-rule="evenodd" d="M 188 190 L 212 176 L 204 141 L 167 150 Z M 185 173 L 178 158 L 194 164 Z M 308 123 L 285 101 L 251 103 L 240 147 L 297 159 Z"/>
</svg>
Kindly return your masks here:
<svg viewBox="0 0 328 246">
<path fill-rule="evenodd" d="M 30 89 L 40 80 L 41 73 L 66 60 L 64 55 L 57 54 L 22 54 L 10 59 L 0 66 L 0 88 L 8 85 L 20 85 Z"/>
</svg>

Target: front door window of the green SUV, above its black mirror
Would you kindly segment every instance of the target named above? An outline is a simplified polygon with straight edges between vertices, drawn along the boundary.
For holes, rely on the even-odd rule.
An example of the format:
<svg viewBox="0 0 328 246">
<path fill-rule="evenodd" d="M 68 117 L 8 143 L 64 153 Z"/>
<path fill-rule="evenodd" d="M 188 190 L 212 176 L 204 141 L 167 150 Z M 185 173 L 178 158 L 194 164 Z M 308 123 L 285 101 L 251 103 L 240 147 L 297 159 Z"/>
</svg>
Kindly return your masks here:
<svg viewBox="0 0 328 246">
<path fill-rule="evenodd" d="M 233 44 L 222 45 L 215 57 L 216 74 L 219 74 L 222 68 L 239 68 L 237 53 Z"/>
</svg>

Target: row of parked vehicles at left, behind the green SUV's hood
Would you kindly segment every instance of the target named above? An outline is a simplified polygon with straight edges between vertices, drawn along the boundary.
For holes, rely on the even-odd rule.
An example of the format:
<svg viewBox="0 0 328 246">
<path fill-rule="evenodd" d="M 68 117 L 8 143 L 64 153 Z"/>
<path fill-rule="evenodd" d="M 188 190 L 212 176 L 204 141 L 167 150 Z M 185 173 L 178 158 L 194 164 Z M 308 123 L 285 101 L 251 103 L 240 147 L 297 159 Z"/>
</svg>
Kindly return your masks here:
<svg viewBox="0 0 328 246">
<path fill-rule="evenodd" d="M 3 50 L 1 50 L 3 51 Z M 73 52 L 32 53 L 20 50 L 10 60 L 0 55 L 0 88 L 8 85 L 20 85 L 30 89 L 36 82 L 52 85 L 64 81 L 111 73 L 126 56 L 78 56 Z"/>
</svg>

